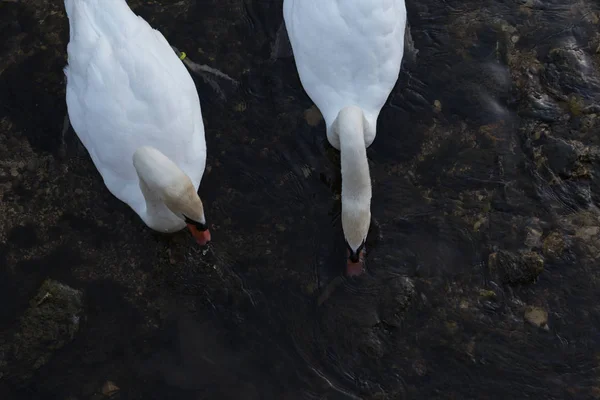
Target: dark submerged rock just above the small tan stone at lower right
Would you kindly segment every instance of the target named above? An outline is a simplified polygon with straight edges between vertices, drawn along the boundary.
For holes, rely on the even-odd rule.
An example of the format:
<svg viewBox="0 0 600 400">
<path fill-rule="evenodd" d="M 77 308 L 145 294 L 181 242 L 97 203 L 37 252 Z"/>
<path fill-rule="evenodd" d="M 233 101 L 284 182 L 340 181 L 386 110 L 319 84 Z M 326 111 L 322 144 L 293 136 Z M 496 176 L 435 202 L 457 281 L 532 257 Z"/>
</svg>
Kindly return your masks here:
<svg viewBox="0 0 600 400">
<path fill-rule="evenodd" d="M 544 259 L 533 251 L 513 253 L 500 250 L 490 254 L 488 265 L 493 274 L 499 275 L 502 283 L 508 284 L 530 283 L 544 271 Z"/>
</svg>

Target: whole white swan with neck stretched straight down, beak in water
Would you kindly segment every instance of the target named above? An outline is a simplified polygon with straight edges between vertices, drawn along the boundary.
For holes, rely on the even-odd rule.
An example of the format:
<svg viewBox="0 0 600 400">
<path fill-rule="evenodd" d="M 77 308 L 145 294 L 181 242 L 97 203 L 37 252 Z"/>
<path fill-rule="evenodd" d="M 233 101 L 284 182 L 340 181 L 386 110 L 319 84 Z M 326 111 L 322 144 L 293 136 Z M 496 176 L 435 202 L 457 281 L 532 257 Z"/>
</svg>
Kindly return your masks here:
<svg viewBox="0 0 600 400">
<path fill-rule="evenodd" d="M 302 86 L 340 151 L 347 274 L 358 275 L 371 222 L 366 148 L 398 80 L 404 0 L 284 0 L 283 13 Z"/>
</svg>

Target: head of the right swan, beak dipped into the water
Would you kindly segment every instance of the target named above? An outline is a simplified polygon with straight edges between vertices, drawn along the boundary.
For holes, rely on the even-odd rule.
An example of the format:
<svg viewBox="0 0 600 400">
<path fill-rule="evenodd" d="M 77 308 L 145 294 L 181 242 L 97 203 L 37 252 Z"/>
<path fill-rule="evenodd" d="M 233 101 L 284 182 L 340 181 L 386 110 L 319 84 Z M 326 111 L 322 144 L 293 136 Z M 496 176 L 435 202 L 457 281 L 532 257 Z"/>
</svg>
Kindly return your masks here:
<svg viewBox="0 0 600 400">
<path fill-rule="evenodd" d="M 371 224 L 369 205 L 342 199 L 342 229 L 346 241 L 346 275 L 357 276 L 365 270 L 366 240 Z"/>
</svg>

